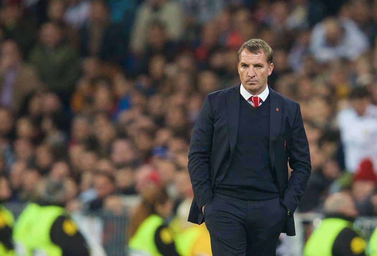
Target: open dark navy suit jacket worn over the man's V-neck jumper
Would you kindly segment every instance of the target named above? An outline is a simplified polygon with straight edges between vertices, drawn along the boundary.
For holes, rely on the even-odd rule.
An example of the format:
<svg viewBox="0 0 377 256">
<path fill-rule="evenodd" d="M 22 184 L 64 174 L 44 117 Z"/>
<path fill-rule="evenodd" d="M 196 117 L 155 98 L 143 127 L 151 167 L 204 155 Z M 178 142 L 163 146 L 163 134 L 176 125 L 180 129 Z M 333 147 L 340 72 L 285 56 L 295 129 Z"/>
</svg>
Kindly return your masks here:
<svg viewBox="0 0 377 256">
<path fill-rule="evenodd" d="M 270 167 L 280 201 L 293 213 L 305 191 L 310 173 L 310 153 L 300 105 L 270 89 Z M 240 85 L 210 93 L 193 128 L 189 173 L 194 191 L 188 221 L 202 224 L 202 206 L 224 178 L 236 147 L 240 108 Z M 288 161 L 293 169 L 288 180 Z M 245 163 L 247 164 L 247 163 Z M 294 236 L 293 215 L 284 233 Z"/>
</svg>

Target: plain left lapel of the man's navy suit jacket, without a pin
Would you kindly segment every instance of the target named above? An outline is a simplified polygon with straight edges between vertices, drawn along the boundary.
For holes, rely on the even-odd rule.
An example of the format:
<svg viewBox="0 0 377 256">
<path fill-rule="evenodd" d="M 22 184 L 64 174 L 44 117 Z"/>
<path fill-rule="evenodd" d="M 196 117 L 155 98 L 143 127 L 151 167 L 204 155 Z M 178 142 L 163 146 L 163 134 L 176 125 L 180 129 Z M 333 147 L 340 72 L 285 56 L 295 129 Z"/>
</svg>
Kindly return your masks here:
<svg viewBox="0 0 377 256">
<path fill-rule="evenodd" d="M 236 148 L 237 135 L 238 135 L 238 120 L 239 120 L 239 106 L 240 101 L 240 85 L 234 86 L 227 94 L 227 119 L 228 119 L 228 134 L 230 144 L 230 155 L 233 156 L 234 148 Z"/>
</svg>

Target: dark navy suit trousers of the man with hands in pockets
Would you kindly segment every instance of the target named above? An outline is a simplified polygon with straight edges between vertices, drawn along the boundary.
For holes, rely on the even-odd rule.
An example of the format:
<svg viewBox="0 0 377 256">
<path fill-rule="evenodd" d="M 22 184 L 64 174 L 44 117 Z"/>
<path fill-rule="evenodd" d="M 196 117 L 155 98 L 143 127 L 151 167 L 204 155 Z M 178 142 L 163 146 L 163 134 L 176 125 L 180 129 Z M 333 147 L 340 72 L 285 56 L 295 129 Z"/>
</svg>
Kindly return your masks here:
<svg viewBox="0 0 377 256">
<path fill-rule="evenodd" d="M 279 197 L 248 201 L 219 193 L 204 207 L 213 256 L 274 256 L 287 219 Z"/>
</svg>

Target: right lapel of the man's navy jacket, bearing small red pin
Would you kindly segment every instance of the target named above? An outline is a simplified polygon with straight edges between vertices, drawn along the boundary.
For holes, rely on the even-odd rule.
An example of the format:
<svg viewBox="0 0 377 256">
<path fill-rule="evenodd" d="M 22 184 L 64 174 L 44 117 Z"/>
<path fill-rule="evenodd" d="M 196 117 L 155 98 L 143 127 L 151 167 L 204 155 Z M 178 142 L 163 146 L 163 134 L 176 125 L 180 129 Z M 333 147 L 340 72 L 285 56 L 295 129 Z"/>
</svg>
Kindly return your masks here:
<svg viewBox="0 0 377 256">
<path fill-rule="evenodd" d="M 268 89 L 270 89 L 270 143 L 268 151 L 270 155 L 271 168 L 273 168 L 275 162 L 273 144 L 277 139 L 277 135 L 281 128 L 283 105 L 280 102 L 279 96 L 276 94 L 276 92 L 271 89 L 270 86 L 268 86 Z"/>
</svg>

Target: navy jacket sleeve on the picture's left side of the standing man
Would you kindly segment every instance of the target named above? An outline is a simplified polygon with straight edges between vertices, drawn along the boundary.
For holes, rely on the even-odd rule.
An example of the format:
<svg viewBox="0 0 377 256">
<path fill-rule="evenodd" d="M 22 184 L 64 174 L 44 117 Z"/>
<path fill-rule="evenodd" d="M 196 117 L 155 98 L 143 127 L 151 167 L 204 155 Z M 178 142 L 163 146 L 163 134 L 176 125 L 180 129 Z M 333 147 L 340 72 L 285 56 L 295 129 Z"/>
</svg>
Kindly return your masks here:
<svg viewBox="0 0 377 256">
<path fill-rule="evenodd" d="M 189 174 L 196 202 L 202 206 L 212 200 L 209 160 L 213 136 L 213 111 L 210 96 L 204 99 L 191 135 Z"/>
</svg>

